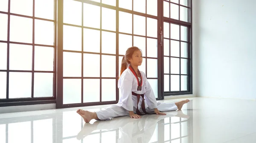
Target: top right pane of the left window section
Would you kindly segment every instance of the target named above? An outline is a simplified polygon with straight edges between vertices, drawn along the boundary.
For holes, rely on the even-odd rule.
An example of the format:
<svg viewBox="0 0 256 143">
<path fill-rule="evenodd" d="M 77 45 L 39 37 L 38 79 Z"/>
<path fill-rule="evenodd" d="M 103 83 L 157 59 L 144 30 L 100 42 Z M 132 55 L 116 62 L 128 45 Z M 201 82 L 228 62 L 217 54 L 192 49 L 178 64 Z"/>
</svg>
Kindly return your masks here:
<svg viewBox="0 0 256 143">
<path fill-rule="evenodd" d="M 35 0 L 35 17 L 54 20 L 54 0 Z"/>
</svg>

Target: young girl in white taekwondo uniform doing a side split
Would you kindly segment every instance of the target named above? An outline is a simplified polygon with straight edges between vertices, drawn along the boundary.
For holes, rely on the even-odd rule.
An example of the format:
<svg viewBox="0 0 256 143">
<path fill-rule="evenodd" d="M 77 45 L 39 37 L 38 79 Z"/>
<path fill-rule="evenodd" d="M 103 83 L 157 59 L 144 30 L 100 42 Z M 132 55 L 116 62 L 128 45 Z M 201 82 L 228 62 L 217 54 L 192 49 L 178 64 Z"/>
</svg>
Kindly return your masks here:
<svg viewBox="0 0 256 143">
<path fill-rule="evenodd" d="M 117 104 L 97 112 L 78 109 L 77 113 L 84 118 L 86 123 L 92 119 L 109 120 L 125 115 L 130 115 L 131 118 L 140 118 L 140 115 L 151 114 L 149 112 L 166 115 L 163 112 L 176 111 L 181 109 L 183 104 L 189 102 L 188 99 L 176 103 L 157 102 L 145 73 L 138 69 L 141 64 L 141 50 L 137 47 L 128 48 L 122 58 L 121 73 L 118 80 L 118 88 L 121 89 L 122 97 Z"/>
</svg>

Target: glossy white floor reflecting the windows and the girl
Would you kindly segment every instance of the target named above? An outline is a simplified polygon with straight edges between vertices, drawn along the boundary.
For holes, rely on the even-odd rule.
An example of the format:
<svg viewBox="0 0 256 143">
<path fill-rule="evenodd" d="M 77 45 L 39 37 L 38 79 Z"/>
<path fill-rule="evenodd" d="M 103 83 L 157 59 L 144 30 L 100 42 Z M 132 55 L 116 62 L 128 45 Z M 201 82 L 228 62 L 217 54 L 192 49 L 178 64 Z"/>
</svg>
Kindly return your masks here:
<svg viewBox="0 0 256 143">
<path fill-rule="evenodd" d="M 165 116 L 86 124 L 78 108 L 0 114 L 0 143 L 256 143 L 256 101 L 189 99 Z"/>
</svg>

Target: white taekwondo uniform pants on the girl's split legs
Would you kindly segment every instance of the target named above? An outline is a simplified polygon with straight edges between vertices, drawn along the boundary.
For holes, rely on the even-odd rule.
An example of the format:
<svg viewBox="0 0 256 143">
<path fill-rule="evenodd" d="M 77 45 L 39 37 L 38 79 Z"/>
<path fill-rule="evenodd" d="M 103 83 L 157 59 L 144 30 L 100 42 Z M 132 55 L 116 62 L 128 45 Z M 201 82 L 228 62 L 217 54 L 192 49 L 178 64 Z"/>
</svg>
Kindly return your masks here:
<svg viewBox="0 0 256 143">
<path fill-rule="evenodd" d="M 140 105 L 141 106 L 141 105 Z M 166 111 L 176 111 L 178 108 L 175 103 L 161 103 L 157 102 L 157 109 L 161 112 Z M 134 112 L 136 113 L 136 108 L 134 107 Z M 141 113 L 144 113 L 142 109 L 140 109 Z M 146 108 L 146 112 L 154 112 L 154 109 Z M 100 111 L 96 111 L 96 114 L 100 120 L 110 120 L 119 116 L 129 115 L 129 111 L 119 105 L 112 105 L 111 107 L 105 108 Z"/>
</svg>

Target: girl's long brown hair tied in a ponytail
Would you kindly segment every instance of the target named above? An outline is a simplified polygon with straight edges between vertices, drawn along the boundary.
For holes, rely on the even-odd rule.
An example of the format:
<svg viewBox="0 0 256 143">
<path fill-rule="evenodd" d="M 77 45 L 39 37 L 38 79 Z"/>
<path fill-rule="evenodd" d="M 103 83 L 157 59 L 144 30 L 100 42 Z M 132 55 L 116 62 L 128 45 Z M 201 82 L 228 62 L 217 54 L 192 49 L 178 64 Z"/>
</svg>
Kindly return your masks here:
<svg viewBox="0 0 256 143">
<path fill-rule="evenodd" d="M 127 69 L 127 67 L 131 64 L 130 61 L 128 61 L 128 59 L 132 58 L 132 55 L 135 51 L 140 50 L 138 47 L 131 47 L 128 48 L 125 52 L 125 56 L 123 56 L 122 58 L 122 62 L 121 62 L 121 70 L 120 70 L 120 76 L 122 75 L 122 73 Z M 141 50 L 140 50 L 141 51 Z M 142 51 L 141 51 L 142 53 Z"/>
</svg>

